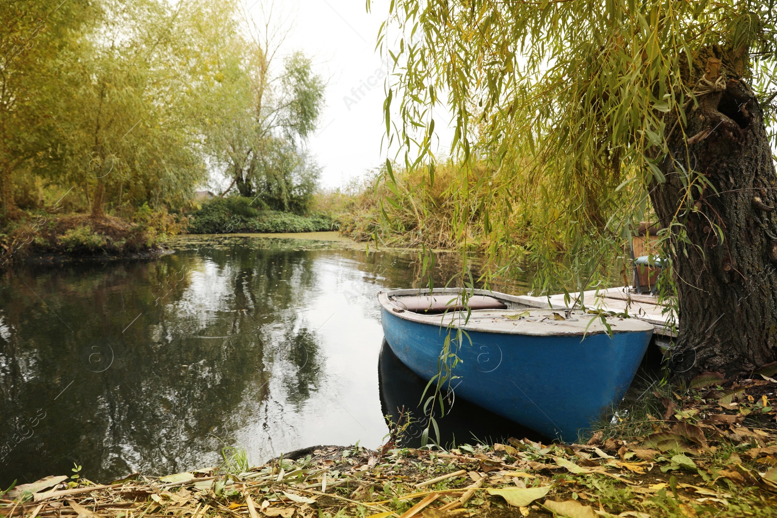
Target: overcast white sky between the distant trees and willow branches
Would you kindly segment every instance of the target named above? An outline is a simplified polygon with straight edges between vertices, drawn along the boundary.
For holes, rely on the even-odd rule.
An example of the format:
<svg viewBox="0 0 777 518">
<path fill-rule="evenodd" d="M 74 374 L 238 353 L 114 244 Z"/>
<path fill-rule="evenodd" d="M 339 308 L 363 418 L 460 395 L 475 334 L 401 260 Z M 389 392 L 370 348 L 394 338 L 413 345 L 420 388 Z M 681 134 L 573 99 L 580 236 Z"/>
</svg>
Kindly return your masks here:
<svg viewBox="0 0 777 518">
<path fill-rule="evenodd" d="M 261 16 L 265 0 L 251 8 Z M 253 0 L 248 0 L 252 5 Z M 342 186 L 385 162 L 381 141 L 384 78 L 387 64 L 375 50 L 378 29 L 389 2 L 373 2 L 367 13 L 364 0 L 282 0 L 275 8 L 293 23 L 284 50 L 302 50 L 315 63 L 315 71 L 329 78 L 326 109 L 309 148 L 323 172 L 321 185 Z M 347 99 L 346 99 L 347 98 Z M 436 127 L 447 121 L 437 120 Z"/>
</svg>

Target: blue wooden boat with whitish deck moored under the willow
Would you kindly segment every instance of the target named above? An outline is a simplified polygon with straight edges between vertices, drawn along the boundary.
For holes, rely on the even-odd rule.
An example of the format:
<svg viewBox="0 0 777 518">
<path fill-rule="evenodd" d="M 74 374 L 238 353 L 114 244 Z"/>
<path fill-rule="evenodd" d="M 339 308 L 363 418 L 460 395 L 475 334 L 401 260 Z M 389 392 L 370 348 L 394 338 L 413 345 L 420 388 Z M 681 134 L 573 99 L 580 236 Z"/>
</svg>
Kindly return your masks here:
<svg viewBox="0 0 777 518">
<path fill-rule="evenodd" d="M 580 309 L 531 308 L 491 291 L 465 299 L 458 288 L 379 293 L 392 351 L 430 380 L 450 336 L 462 360 L 449 384 L 457 396 L 566 442 L 620 402 L 653 334 L 636 318 L 608 318 L 608 335 Z"/>
</svg>

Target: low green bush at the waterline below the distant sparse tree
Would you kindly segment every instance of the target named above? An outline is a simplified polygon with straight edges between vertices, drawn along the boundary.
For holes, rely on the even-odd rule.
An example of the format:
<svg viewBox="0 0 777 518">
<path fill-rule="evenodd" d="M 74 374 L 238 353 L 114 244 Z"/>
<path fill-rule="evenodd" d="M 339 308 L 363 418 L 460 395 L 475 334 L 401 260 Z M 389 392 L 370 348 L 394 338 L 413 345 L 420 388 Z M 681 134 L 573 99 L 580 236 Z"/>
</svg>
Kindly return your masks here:
<svg viewBox="0 0 777 518">
<path fill-rule="evenodd" d="M 233 196 L 211 200 L 190 216 L 190 234 L 231 232 L 320 232 L 336 230 L 332 219 L 323 214 L 299 216 L 276 210 L 256 210 L 248 198 Z"/>
</svg>

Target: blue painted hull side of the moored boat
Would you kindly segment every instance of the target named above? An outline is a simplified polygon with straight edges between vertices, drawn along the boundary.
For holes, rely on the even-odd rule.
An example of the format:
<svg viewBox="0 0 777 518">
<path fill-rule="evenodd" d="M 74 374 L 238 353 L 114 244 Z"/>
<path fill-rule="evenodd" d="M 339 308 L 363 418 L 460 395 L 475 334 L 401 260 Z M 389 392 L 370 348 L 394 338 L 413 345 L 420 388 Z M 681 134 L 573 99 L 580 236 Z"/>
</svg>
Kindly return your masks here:
<svg viewBox="0 0 777 518">
<path fill-rule="evenodd" d="M 382 308 L 385 339 L 425 380 L 437 374 L 450 330 Z M 450 387 L 462 397 L 545 436 L 573 442 L 625 395 L 652 330 L 587 335 L 467 331 Z M 455 339 L 451 332 L 451 342 Z M 470 344 L 471 341 L 471 344 Z"/>
</svg>

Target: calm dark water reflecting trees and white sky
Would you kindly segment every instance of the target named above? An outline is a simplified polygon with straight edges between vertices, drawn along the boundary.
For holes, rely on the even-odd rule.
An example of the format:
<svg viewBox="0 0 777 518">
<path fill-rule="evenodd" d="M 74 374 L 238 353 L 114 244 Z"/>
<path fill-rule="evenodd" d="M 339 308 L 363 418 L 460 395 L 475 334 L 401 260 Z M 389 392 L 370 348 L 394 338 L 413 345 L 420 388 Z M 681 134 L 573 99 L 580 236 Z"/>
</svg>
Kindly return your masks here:
<svg viewBox="0 0 777 518">
<path fill-rule="evenodd" d="M 378 447 L 385 413 L 417 404 L 423 382 L 382 352 L 375 297 L 420 285 L 415 252 L 333 235 L 171 245 L 158 259 L 0 274 L 0 485 L 74 462 L 94 481 L 165 475 L 218 464 L 225 444 L 252 465 L 314 444 Z M 444 283 L 460 266 L 438 259 Z M 523 433 L 457 410 L 460 441 Z"/>
</svg>

